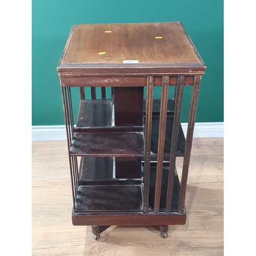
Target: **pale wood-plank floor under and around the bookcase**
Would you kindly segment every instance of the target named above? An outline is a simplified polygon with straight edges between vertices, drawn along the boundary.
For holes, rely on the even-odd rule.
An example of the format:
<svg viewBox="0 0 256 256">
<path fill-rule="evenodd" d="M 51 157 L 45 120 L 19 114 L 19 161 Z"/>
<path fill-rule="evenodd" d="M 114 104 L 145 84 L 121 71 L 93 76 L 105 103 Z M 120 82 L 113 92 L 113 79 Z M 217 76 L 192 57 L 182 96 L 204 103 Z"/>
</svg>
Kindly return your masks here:
<svg viewBox="0 0 256 256">
<path fill-rule="evenodd" d="M 73 226 L 67 153 L 66 141 L 32 142 L 32 255 L 223 255 L 223 138 L 194 139 L 187 222 L 169 226 L 167 239 L 149 226 L 111 226 L 96 241 L 90 226 Z"/>
</svg>

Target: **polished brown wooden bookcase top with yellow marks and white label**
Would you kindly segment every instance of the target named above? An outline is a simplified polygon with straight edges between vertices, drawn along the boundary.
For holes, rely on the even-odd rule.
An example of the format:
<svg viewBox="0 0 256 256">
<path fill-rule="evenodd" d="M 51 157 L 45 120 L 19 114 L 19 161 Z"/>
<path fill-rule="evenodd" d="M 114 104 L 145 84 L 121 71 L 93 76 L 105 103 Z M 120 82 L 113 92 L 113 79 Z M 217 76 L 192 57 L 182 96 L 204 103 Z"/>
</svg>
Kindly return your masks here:
<svg viewBox="0 0 256 256">
<path fill-rule="evenodd" d="M 75 25 L 59 67 L 201 67 L 204 63 L 180 22 Z"/>
</svg>

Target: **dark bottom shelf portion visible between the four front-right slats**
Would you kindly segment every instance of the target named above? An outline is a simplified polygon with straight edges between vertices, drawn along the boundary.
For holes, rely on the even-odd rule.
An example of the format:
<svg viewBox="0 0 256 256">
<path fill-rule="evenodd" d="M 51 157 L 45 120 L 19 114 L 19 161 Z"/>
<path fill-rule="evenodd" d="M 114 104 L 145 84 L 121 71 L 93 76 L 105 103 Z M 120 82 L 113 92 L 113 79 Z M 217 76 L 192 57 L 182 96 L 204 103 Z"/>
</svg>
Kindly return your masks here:
<svg viewBox="0 0 256 256">
<path fill-rule="evenodd" d="M 163 167 L 163 176 L 162 176 L 161 197 L 160 197 L 160 212 L 165 212 L 168 174 L 169 174 L 169 167 L 164 166 Z M 151 166 L 151 168 L 150 168 L 150 195 L 149 195 L 150 197 L 149 197 L 149 202 L 148 202 L 150 211 L 154 210 L 155 188 L 156 188 L 156 166 Z M 180 195 L 180 182 L 179 182 L 177 170 L 175 169 L 171 212 L 178 212 L 179 195 Z"/>
</svg>

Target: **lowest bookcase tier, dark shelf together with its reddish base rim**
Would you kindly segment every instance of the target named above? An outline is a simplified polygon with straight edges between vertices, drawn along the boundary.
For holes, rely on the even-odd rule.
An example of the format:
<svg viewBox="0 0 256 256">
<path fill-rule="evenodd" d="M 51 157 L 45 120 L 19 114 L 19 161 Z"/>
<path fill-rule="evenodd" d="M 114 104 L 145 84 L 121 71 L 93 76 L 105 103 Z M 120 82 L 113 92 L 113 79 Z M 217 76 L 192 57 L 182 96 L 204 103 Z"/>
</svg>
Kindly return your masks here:
<svg viewBox="0 0 256 256">
<path fill-rule="evenodd" d="M 83 157 L 73 225 L 183 225 L 186 211 L 178 213 L 180 183 L 175 169 L 171 212 L 165 213 L 168 162 L 163 163 L 160 212 L 154 214 L 156 162 L 151 162 L 149 211 L 143 213 L 141 179 L 113 178 L 113 158 Z M 142 162 L 142 174 L 143 174 Z M 104 168 L 101 168 L 105 166 Z M 117 182 L 117 184 L 114 184 Z M 123 183 L 122 183 L 123 182 Z M 132 182 L 132 183 L 131 183 Z M 139 184 L 137 183 L 139 182 Z"/>
</svg>

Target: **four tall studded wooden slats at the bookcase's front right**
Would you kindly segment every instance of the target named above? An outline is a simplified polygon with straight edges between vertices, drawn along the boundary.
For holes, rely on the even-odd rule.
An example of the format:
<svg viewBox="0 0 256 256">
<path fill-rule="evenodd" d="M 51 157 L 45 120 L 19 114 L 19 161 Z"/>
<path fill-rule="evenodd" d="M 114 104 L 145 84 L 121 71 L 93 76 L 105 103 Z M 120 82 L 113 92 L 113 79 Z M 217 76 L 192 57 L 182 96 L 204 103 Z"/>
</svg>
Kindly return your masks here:
<svg viewBox="0 0 256 256">
<path fill-rule="evenodd" d="M 183 213 L 184 210 L 184 200 L 186 192 L 186 180 L 189 165 L 189 156 L 191 151 L 191 141 L 193 138 L 193 125 L 195 122 L 195 105 L 197 104 L 198 98 L 198 82 L 199 76 L 195 77 L 193 84 L 193 95 L 191 99 L 191 110 L 189 114 L 189 126 L 187 142 L 186 142 L 186 156 L 184 157 L 183 173 L 181 188 L 178 187 L 179 198 L 179 213 Z M 161 201 L 161 188 L 162 178 L 163 178 L 163 156 L 164 156 L 164 143 L 165 143 L 165 133 L 166 133 L 166 116 L 167 116 L 167 102 L 168 102 L 168 86 L 169 86 L 169 76 L 162 77 L 162 88 L 161 88 L 161 100 L 160 100 L 160 117 L 159 117 L 159 134 L 158 134 L 158 154 L 157 154 L 157 167 L 156 167 L 156 181 L 155 181 L 155 198 L 154 198 L 154 214 L 160 212 Z M 177 145 L 178 145 L 178 135 L 180 128 L 180 116 L 181 116 L 181 105 L 183 88 L 185 86 L 185 76 L 178 76 L 177 86 L 175 86 L 174 97 L 175 97 L 175 111 L 174 111 L 174 122 L 172 129 L 172 143 L 170 145 L 170 159 L 169 159 L 169 172 L 168 172 L 168 182 L 166 194 L 166 207 L 165 212 L 169 214 L 172 212 L 172 199 L 173 199 L 173 189 L 175 181 L 176 172 L 176 157 L 177 157 Z M 143 202 L 143 212 L 148 212 L 148 199 L 149 199 L 149 189 L 150 189 L 150 168 L 151 168 L 151 133 L 152 133 L 152 111 L 153 111 L 153 88 L 154 88 L 154 77 L 147 77 L 147 91 L 146 91 L 146 109 L 145 109 L 145 154 L 144 154 L 144 202 Z M 193 127 L 192 127 L 193 126 Z M 193 128 L 193 129 L 192 129 Z M 165 163 L 166 164 L 166 163 Z M 177 188 L 176 188 L 177 189 Z M 165 190 L 165 189 L 164 189 Z M 181 193 L 180 193 L 181 191 Z M 165 197 L 163 197 L 165 198 Z M 177 199 L 176 199 L 177 200 Z M 162 207 L 162 206 L 161 206 Z"/>
</svg>

